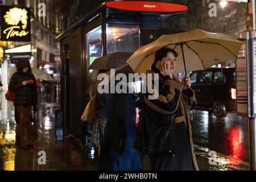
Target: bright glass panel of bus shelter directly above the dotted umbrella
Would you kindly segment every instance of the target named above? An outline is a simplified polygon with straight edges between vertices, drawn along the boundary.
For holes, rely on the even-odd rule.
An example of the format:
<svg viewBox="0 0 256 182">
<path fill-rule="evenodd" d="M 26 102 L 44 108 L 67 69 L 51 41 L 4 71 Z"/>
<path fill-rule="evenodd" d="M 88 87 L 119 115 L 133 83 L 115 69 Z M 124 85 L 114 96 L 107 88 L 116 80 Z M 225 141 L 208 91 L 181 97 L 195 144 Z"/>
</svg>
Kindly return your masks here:
<svg viewBox="0 0 256 182">
<path fill-rule="evenodd" d="M 106 25 L 107 54 L 112 52 L 135 52 L 140 47 L 139 25 Z"/>
</svg>

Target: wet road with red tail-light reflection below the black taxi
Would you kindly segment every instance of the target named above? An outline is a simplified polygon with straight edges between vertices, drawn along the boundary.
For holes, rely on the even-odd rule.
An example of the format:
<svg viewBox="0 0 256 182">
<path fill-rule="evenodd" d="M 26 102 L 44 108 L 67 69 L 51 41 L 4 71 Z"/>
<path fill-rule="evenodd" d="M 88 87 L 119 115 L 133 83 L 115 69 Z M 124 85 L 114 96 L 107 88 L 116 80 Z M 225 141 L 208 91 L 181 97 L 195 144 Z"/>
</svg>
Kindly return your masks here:
<svg viewBox="0 0 256 182">
<path fill-rule="evenodd" d="M 249 133 L 247 118 L 229 113 L 218 119 L 208 111 L 194 110 L 193 140 L 200 156 L 209 157 L 215 151 L 218 168 L 249 169 Z M 200 146 L 200 147 L 199 147 Z M 207 153 L 205 153 L 207 152 Z M 221 167 L 221 165 L 223 167 Z M 214 169 L 214 165 L 210 166 Z"/>
</svg>

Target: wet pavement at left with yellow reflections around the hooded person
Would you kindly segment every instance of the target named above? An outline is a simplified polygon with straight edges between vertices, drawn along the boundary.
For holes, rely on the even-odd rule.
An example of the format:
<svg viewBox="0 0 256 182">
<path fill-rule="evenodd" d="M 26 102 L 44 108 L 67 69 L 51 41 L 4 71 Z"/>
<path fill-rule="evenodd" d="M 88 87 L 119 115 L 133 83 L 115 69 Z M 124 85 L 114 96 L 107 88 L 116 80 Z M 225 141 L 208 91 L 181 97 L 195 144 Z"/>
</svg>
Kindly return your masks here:
<svg viewBox="0 0 256 182">
<path fill-rule="evenodd" d="M 13 103 L 2 102 L 0 121 L 0 171 L 1 170 L 96 170 L 96 164 L 86 156 L 86 151 L 70 139 L 56 140 L 54 109 L 59 104 L 42 100 L 39 104 L 38 122 L 31 123 L 34 148 L 23 150 L 16 143 Z M 3 106 L 3 104 L 6 104 Z M 3 110 L 3 108 L 7 110 Z M 3 113 L 3 111 L 7 113 Z M 46 164 L 39 164 L 39 151 L 46 152 Z"/>
</svg>

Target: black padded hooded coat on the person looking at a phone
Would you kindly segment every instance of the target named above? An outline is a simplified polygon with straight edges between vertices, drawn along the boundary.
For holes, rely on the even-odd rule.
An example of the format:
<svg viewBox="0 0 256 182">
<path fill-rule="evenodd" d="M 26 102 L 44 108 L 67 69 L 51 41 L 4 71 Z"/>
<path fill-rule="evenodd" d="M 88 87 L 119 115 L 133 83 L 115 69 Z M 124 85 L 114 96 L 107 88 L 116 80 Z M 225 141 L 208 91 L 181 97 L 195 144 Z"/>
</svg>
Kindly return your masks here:
<svg viewBox="0 0 256 182">
<path fill-rule="evenodd" d="M 28 67 L 28 72 L 24 73 L 24 67 Z M 34 75 L 31 72 L 30 64 L 27 60 L 20 61 L 16 65 L 17 72 L 11 77 L 8 89 L 14 93 L 14 106 L 35 105 L 37 86 Z M 33 84 L 22 85 L 23 81 L 33 80 Z"/>
</svg>

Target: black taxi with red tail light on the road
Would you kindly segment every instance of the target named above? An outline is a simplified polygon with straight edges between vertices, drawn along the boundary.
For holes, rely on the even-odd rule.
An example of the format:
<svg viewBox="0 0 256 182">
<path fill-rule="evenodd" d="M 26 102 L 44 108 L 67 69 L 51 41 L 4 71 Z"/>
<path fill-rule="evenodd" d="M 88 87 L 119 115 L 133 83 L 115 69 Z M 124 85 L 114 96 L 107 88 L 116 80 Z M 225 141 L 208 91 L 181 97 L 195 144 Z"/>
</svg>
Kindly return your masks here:
<svg viewBox="0 0 256 182">
<path fill-rule="evenodd" d="M 214 113 L 224 118 L 236 111 L 236 72 L 234 68 L 209 68 L 190 75 L 195 90 L 195 109 Z"/>
</svg>

